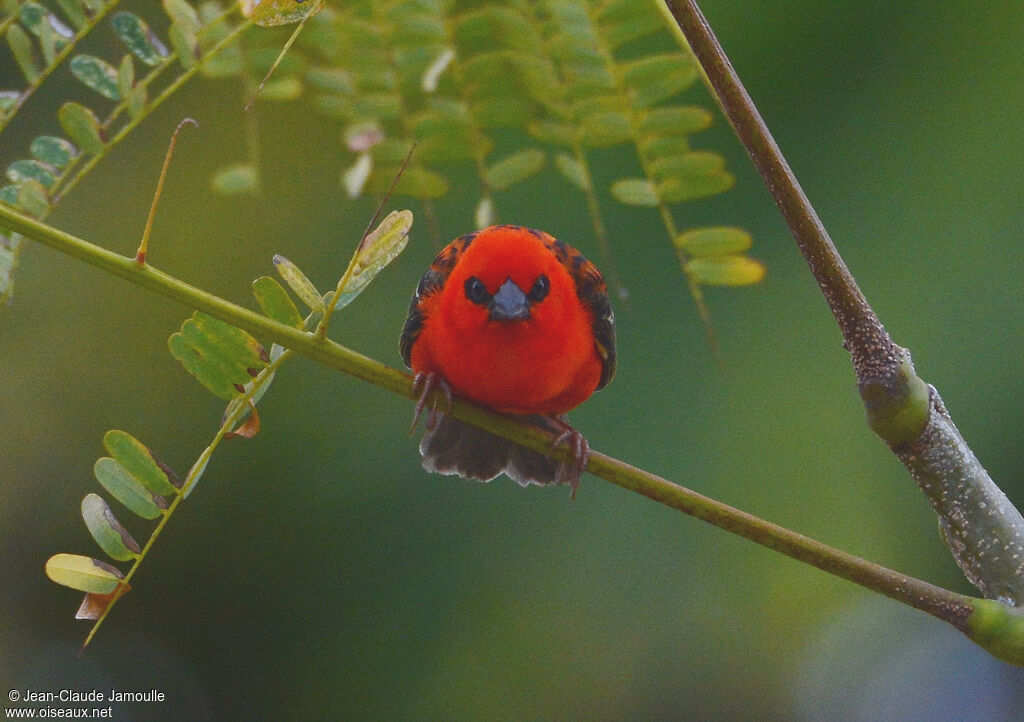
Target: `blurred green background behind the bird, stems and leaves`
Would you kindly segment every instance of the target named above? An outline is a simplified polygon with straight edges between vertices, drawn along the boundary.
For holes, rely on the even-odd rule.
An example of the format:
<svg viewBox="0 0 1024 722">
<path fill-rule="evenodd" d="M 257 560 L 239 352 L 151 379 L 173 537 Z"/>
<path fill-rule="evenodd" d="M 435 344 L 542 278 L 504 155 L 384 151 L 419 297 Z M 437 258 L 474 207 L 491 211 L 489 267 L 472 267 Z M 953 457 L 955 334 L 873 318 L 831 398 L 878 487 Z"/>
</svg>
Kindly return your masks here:
<svg viewBox="0 0 1024 722">
<path fill-rule="evenodd" d="M 868 298 L 1021 506 L 1024 5 L 702 5 Z M 4 164 L 55 129 L 54 87 L 3 136 Z M 250 305 L 274 253 L 332 286 L 376 201 L 339 187 L 350 161 L 333 124 L 270 102 L 263 195 L 212 195 L 211 173 L 245 153 L 242 104 L 229 84 L 194 83 L 50 221 L 133 251 L 188 115 L 202 128 L 178 143 L 151 260 Z M 601 452 L 973 593 L 864 424 L 839 332 L 751 164 L 721 119 L 697 142 L 727 156 L 736 187 L 677 219 L 749 228 L 768 277 L 708 293 L 717 364 L 654 214 L 607 201 L 630 291 L 620 371 L 573 422 Z M 604 178 L 624 162 L 604 158 Z M 441 240 L 470 229 L 475 200 L 462 177 L 438 208 Z M 597 257 L 582 196 L 550 168 L 498 202 L 503 221 Z M 418 218 L 332 326 L 392 366 L 438 249 Z M 594 477 L 570 502 L 428 475 L 409 401 L 304 359 L 262 401 L 263 432 L 214 457 L 77 659 L 80 595 L 43 563 L 95 553 L 78 510 L 98 491 L 103 432 L 130 431 L 184 473 L 223 405 L 167 352 L 187 309 L 36 245 L 16 283 L 0 314 L 7 688 L 167 695 L 117 719 L 1019 719 L 1021 670 L 941 623 Z"/>
</svg>

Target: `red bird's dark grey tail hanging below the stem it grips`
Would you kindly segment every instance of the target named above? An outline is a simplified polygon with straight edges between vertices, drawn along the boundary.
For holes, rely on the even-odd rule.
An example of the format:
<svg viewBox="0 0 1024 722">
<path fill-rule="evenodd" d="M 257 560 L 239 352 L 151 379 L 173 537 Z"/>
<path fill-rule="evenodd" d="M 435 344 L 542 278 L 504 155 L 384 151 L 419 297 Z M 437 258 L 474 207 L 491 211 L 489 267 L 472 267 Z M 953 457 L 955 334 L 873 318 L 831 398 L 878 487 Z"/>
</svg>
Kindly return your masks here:
<svg viewBox="0 0 1024 722">
<path fill-rule="evenodd" d="M 543 417 L 520 417 L 548 428 Z M 559 462 L 514 441 L 496 436 L 437 412 L 436 423 L 420 441 L 423 468 L 439 474 L 459 474 L 467 479 L 489 481 L 505 472 L 526 486 L 531 483 L 566 483 L 559 475 Z"/>
</svg>

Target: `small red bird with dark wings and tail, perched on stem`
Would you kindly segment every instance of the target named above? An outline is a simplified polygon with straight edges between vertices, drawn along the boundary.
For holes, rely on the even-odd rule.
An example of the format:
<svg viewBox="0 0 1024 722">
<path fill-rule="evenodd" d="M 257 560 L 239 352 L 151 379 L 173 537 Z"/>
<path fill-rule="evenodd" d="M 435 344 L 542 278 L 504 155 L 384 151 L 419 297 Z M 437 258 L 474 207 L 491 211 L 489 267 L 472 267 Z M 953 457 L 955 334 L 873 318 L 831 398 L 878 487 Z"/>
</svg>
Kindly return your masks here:
<svg viewBox="0 0 1024 722">
<path fill-rule="evenodd" d="M 475 426 L 431 411 L 423 467 L 522 485 L 570 483 L 587 464 L 587 440 L 563 415 L 615 371 L 615 326 L 601 272 L 548 233 L 495 225 L 462 236 L 423 274 L 401 332 L 401 357 L 423 394 L 435 387 L 524 416 L 568 443 L 566 467 Z M 414 422 L 415 425 L 415 422 Z"/>
</svg>

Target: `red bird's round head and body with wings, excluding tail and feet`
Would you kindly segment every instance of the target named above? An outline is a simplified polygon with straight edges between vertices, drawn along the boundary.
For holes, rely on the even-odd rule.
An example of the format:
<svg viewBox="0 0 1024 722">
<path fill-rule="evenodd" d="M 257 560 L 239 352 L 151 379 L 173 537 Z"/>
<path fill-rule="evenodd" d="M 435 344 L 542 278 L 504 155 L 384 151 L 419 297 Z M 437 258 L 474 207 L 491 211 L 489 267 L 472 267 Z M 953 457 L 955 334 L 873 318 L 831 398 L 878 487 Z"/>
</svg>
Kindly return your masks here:
<svg viewBox="0 0 1024 722">
<path fill-rule="evenodd" d="M 437 255 L 400 345 L 417 374 L 512 414 L 563 414 L 615 368 L 600 271 L 568 244 L 515 225 L 468 233 Z"/>
</svg>

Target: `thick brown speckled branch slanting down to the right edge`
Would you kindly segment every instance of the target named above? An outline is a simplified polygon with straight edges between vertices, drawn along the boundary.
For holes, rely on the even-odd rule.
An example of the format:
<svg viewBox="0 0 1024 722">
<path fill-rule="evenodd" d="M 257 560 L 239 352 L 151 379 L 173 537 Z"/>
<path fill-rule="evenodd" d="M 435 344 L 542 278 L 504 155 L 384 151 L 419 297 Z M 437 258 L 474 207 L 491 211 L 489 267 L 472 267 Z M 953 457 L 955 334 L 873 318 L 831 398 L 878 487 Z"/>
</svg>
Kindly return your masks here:
<svg viewBox="0 0 1024 722">
<path fill-rule="evenodd" d="M 918 481 L 965 576 L 987 598 L 1024 605 L 1024 517 L 964 441 L 938 391 L 883 327 L 693 0 L 658 0 L 765 185 L 843 334 L 867 423 Z"/>
</svg>

